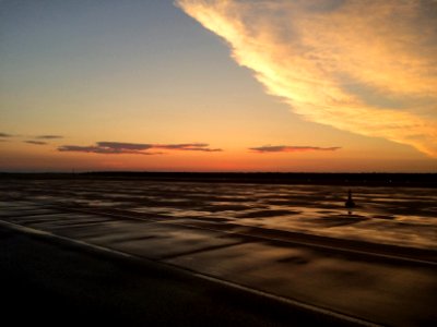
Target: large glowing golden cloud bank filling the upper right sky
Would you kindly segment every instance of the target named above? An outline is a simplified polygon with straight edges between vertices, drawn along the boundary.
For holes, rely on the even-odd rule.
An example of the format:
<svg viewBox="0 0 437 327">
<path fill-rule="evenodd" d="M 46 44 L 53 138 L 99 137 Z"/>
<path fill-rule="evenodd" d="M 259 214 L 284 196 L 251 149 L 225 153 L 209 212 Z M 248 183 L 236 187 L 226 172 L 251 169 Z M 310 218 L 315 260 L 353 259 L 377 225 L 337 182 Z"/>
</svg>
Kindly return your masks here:
<svg viewBox="0 0 437 327">
<path fill-rule="evenodd" d="M 177 5 L 223 37 L 235 61 L 304 119 L 437 157 L 437 1 Z"/>
</svg>

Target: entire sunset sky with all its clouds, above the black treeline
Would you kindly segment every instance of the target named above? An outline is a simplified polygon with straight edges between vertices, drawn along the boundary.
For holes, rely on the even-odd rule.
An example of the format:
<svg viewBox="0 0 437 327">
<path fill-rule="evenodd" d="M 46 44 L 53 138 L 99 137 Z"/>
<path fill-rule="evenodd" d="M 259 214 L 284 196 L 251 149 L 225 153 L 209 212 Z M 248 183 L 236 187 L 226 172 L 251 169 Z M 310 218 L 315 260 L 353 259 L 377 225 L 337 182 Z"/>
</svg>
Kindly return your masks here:
<svg viewBox="0 0 437 327">
<path fill-rule="evenodd" d="M 435 0 L 0 0 L 0 171 L 437 172 Z"/>
</svg>

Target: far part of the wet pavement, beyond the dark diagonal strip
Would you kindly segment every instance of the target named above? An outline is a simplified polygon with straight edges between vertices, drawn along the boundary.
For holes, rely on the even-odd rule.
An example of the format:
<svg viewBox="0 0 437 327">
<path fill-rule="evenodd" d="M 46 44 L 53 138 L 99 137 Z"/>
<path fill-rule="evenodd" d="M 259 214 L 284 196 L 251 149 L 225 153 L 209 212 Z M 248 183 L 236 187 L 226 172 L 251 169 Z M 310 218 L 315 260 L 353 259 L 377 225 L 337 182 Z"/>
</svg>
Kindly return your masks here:
<svg viewBox="0 0 437 327">
<path fill-rule="evenodd" d="M 16 181 L 4 199 L 118 209 L 162 220 L 208 220 L 437 249 L 437 190 L 157 181 Z"/>
</svg>

